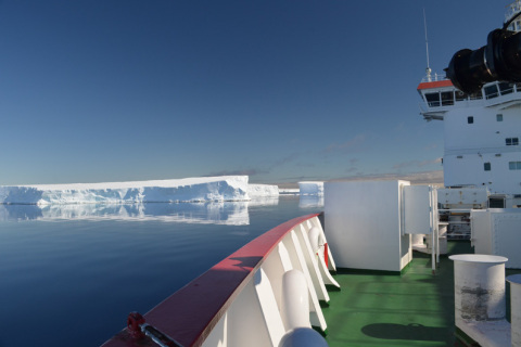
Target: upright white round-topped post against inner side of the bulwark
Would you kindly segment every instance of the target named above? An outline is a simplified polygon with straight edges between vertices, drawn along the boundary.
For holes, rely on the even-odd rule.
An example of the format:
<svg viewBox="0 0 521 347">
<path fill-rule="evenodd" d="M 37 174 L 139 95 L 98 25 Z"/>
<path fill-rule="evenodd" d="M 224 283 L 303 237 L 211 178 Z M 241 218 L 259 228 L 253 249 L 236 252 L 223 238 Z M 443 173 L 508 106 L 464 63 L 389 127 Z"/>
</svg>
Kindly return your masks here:
<svg viewBox="0 0 521 347">
<path fill-rule="evenodd" d="M 282 317 L 287 330 L 310 327 L 309 294 L 304 273 L 300 270 L 285 271 L 282 278 Z"/>
</svg>

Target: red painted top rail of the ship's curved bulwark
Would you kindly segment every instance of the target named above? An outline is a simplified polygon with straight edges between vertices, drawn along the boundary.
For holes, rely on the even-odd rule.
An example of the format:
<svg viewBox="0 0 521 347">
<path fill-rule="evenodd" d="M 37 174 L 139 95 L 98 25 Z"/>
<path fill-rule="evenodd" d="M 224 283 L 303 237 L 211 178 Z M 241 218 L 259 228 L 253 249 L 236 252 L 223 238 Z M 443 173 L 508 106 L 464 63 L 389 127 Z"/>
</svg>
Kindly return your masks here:
<svg viewBox="0 0 521 347">
<path fill-rule="evenodd" d="M 294 227 L 318 214 L 289 220 L 253 240 L 144 314 L 182 346 L 201 346 L 264 259 Z M 102 347 L 156 346 L 124 329 Z"/>
</svg>

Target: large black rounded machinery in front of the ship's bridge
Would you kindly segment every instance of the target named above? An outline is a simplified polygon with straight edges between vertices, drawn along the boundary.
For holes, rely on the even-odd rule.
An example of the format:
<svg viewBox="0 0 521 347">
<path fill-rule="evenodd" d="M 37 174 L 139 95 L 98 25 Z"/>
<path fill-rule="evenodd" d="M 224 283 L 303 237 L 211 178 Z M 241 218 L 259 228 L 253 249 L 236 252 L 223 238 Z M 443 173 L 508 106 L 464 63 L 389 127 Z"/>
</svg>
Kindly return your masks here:
<svg viewBox="0 0 521 347">
<path fill-rule="evenodd" d="M 456 52 L 445 72 L 456 88 L 469 94 L 491 81 L 521 81 L 521 33 L 491 31 L 486 46 Z"/>
</svg>

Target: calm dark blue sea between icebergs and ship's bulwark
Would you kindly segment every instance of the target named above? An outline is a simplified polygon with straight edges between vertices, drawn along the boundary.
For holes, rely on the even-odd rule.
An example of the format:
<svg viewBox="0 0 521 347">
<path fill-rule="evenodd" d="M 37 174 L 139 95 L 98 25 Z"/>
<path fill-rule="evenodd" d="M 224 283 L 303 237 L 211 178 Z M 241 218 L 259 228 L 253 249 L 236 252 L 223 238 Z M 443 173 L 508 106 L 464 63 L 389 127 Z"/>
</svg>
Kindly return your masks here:
<svg viewBox="0 0 521 347">
<path fill-rule="evenodd" d="M 99 346 L 317 198 L 144 205 L 0 205 L 0 347 Z"/>
</svg>

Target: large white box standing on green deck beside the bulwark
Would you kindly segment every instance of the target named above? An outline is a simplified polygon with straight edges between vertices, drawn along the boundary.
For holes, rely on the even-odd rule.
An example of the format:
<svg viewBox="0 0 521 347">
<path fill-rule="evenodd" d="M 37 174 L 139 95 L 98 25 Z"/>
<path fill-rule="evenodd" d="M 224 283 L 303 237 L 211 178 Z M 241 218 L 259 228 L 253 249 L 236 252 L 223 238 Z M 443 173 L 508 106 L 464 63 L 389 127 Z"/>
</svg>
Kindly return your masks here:
<svg viewBox="0 0 521 347">
<path fill-rule="evenodd" d="M 401 271 L 412 259 L 403 232 L 407 181 L 325 183 L 325 229 L 338 267 Z"/>
</svg>

